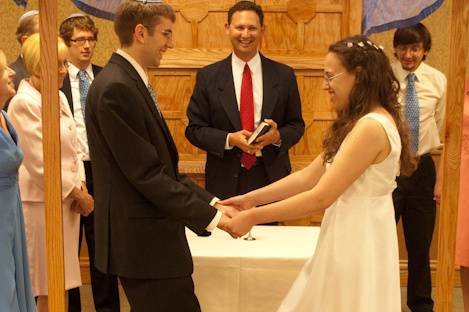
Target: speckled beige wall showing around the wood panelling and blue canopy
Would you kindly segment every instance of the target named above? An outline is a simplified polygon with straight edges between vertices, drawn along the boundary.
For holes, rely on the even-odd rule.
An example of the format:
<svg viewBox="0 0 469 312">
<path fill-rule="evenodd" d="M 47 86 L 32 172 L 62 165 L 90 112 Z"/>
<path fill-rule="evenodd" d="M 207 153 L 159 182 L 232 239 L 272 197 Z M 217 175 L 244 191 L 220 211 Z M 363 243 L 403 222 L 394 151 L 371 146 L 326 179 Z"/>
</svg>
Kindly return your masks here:
<svg viewBox="0 0 469 312">
<path fill-rule="evenodd" d="M 171 2 L 171 1 L 168 1 Z M 78 12 L 78 9 L 70 0 L 59 0 L 59 21 L 68 15 Z M 30 0 L 28 9 L 37 9 L 38 0 Z M 15 30 L 18 18 L 24 13 L 23 9 L 16 6 L 11 0 L 0 1 L 0 48 L 6 53 L 9 61 L 13 61 L 19 52 L 19 44 L 15 39 Z M 433 48 L 427 59 L 428 63 L 443 73 L 448 72 L 447 68 L 447 46 L 448 46 L 448 16 L 450 14 L 450 1 L 445 1 L 442 7 L 434 14 L 430 15 L 423 23 L 429 28 L 433 36 Z M 112 23 L 103 19 L 95 19 L 99 28 L 99 41 L 96 48 L 95 63 L 104 65 L 109 58 L 111 52 L 117 47 L 117 38 L 112 29 Z M 372 39 L 379 42 L 386 48 L 386 52 L 392 56 L 392 34 L 388 31 L 380 34 L 372 35 Z M 177 33 L 176 33 L 177 36 Z M 465 44 L 469 45 L 468 40 Z M 466 64 L 469 64 L 469 53 L 467 55 Z M 466 71 L 466 78 L 469 79 L 469 66 Z"/>
</svg>

